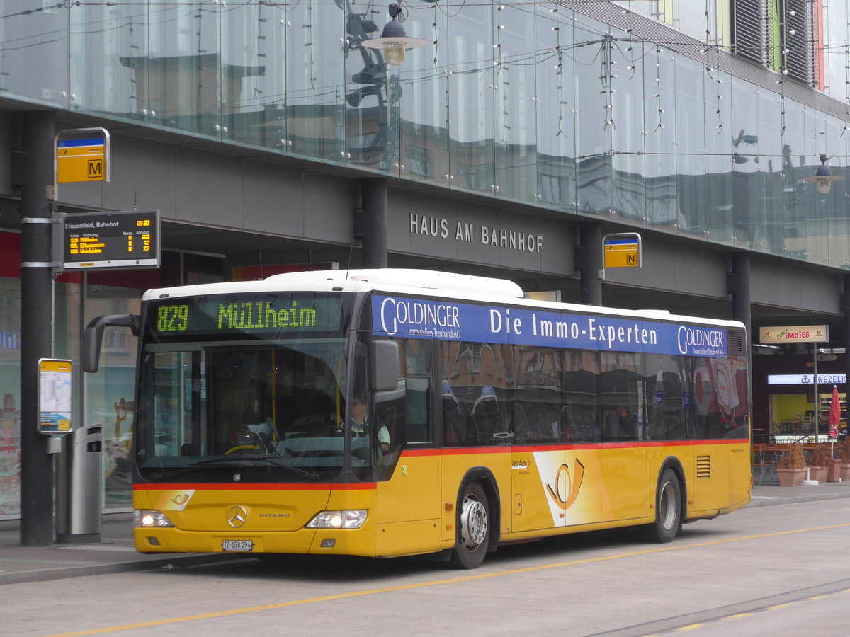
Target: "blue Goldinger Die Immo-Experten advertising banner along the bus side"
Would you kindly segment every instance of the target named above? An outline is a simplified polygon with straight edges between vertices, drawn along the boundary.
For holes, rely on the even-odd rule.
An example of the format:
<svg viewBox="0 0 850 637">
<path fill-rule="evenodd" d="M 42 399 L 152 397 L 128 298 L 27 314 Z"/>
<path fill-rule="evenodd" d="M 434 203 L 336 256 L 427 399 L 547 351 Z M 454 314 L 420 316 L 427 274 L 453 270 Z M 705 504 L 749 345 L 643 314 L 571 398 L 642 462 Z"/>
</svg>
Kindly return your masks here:
<svg viewBox="0 0 850 637">
<path fill-rule="evenodd" d="M 372 296 L 379 336 L 510 343 L 537 347 L 726 357 L 726 330 L 706 325 Z"/>
</svg>

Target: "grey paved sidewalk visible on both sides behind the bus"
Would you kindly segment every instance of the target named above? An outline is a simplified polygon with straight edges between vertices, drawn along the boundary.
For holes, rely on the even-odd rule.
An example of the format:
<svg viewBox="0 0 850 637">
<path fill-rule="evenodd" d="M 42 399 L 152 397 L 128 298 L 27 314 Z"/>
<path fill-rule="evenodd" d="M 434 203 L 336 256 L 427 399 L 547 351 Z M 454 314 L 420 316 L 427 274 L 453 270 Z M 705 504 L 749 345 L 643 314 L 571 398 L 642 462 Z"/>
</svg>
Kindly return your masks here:
<svg viewBox="0 0 850 637">
<path fill-rule="evenodd" d="M 832 498 L 850 498 L 850 482 L 801 487 L 757 486 L 747 506 L 787 505 Z M 0 584 L 188 567 L 245 557 L 238 553 L 141 555 L 133 548 L 132 525 L 130 514 L 106 514 L 98 544 L 31 547 L 20 545 L 17 521 L 0 521 Z"/>
</svg>

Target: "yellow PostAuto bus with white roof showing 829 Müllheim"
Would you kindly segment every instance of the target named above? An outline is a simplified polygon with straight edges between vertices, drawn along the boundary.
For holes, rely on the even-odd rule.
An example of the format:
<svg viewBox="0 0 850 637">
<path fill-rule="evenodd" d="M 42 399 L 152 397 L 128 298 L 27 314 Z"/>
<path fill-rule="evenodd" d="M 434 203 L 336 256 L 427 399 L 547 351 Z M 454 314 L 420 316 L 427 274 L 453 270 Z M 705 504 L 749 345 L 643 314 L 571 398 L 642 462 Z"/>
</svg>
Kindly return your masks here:
<svg viewBox="0 0 850 637">
<path fill-rule="evenodd" d="M 683 522 L 751 497 L 743 324 L 417 270 L 149 290 L 137 550 L 439 554 Z"/>
</svg>

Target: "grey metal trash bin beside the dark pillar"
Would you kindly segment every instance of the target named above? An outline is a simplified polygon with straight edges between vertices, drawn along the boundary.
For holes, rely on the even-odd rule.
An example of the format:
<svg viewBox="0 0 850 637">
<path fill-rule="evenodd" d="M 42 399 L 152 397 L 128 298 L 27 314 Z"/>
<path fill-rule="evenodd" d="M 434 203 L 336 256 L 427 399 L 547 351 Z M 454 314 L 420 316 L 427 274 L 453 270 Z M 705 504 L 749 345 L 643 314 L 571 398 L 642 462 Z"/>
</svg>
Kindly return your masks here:
<svg viewBox="0 0 850 637">
<path fill-rule="evenodd" d="M 86 425 L 62 438 L 56 460 L 56 541 L 100 541 L 100 425 Z"/>
</svg>

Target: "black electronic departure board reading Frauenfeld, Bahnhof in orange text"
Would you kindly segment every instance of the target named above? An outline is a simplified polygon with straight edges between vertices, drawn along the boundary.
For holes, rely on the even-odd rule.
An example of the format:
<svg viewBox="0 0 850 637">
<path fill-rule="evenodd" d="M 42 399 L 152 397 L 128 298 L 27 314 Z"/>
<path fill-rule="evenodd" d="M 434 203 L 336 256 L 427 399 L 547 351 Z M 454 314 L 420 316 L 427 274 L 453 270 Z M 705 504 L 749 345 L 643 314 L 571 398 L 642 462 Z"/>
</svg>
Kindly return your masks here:
<svg viewBox="0 0 850 637">
<path fill-rule="evenodd" d="M 158 268 L 158 210 L 62 214 L 63 270 Z"/>
</svg>

